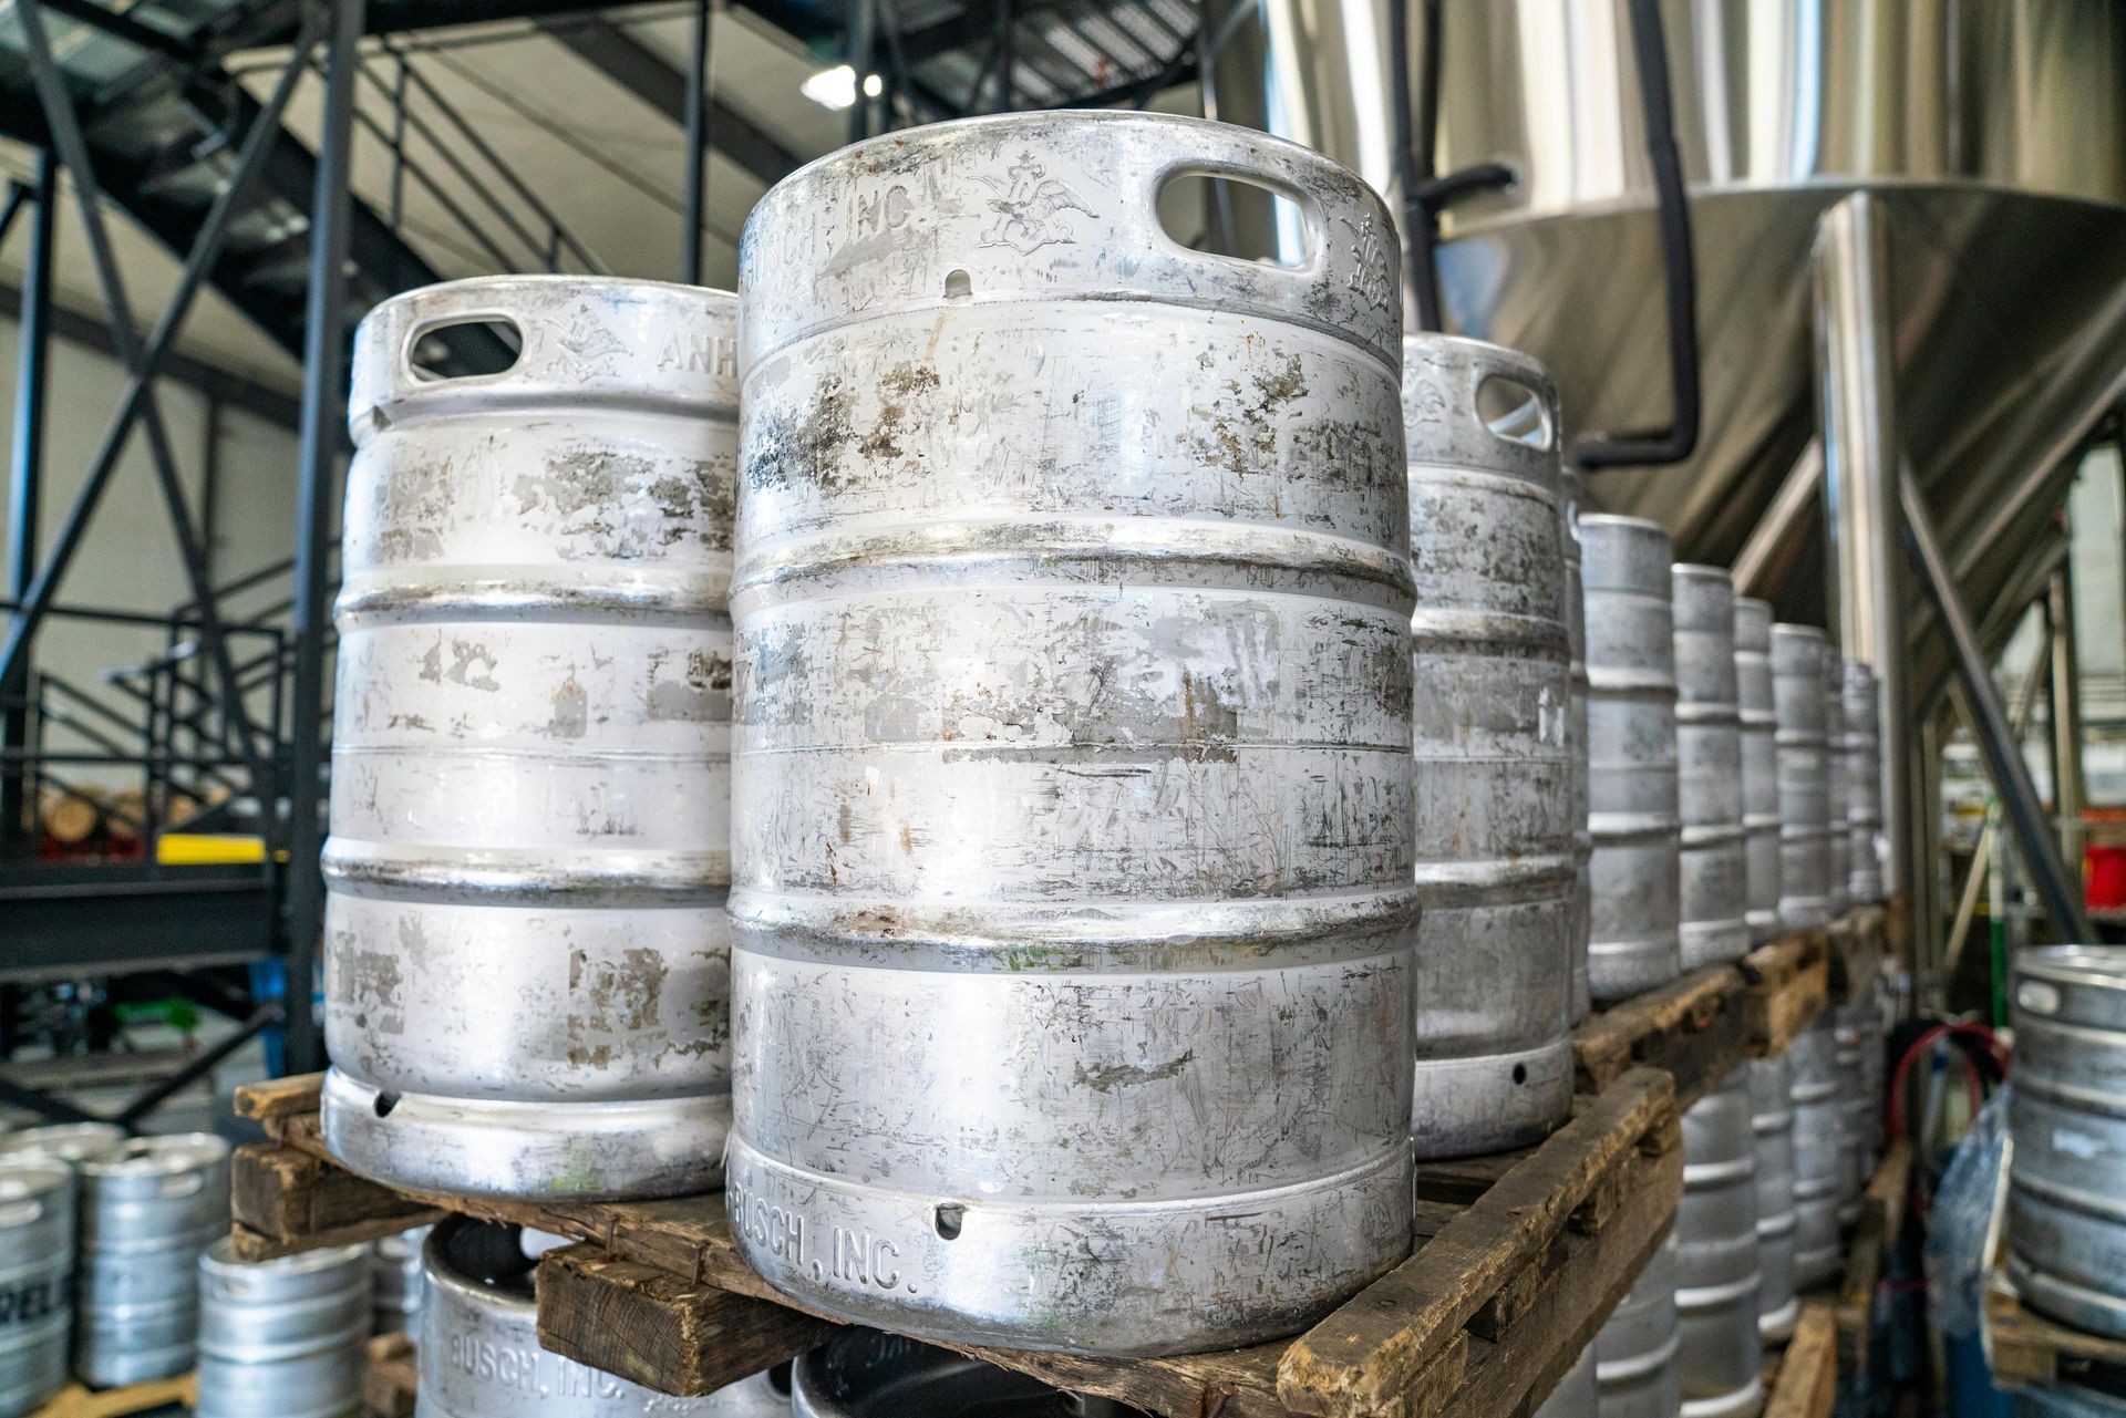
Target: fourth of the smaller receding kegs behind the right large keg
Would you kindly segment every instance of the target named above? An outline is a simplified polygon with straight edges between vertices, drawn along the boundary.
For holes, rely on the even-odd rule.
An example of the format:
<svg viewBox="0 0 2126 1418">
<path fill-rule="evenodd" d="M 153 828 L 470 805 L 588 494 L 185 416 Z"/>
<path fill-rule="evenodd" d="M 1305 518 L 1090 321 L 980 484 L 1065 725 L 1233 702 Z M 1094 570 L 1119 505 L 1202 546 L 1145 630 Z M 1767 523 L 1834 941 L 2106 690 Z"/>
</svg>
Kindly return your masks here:
<svg viewBox="0 0 2126 1418">
<path fill-rule="evenodd" d="M 1830 778 L 1824 725 L 1824 631 L 1771 627 L 1779 767 L 1779 925 L 1830 921 Z"/>
</svg>

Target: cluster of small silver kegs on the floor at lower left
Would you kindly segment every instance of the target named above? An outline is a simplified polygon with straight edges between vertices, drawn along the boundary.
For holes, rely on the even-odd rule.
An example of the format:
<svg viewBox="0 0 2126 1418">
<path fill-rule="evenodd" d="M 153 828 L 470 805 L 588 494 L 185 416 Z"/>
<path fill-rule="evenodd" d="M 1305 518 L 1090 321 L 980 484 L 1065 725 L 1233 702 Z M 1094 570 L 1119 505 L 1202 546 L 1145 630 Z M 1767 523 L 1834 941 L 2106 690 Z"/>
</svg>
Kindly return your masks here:
<svg viewBox="0 0 2126 1418">
<path fill-rule="evenodd" d="M 68 1378 L 115 1388 L 198 1369 L 200 1418 L 344 1418 L 364 1341 L 423 1293 L 415 1237 L 251 1265 L 230 1148 L 108 1122 L 0 1135 L 0 1418 Z"/>
</svg>

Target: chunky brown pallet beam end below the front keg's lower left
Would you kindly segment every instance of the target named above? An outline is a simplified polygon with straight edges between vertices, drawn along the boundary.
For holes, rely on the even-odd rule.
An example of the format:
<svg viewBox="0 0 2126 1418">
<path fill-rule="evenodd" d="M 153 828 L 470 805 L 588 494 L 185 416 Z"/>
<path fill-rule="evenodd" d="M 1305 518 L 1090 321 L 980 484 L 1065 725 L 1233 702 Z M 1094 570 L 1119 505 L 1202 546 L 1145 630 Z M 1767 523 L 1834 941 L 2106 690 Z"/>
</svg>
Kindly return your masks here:
<svg viewBox="0 0 2126 1418">
<path fill-rule="evenodd" d="M 829 1320 L 695 1284 L 597 1246 L 538 1265 L 538 1337 L 555 1354 L 680 1397 L 716 1392 L 825 1344 Z"/>
</svg>

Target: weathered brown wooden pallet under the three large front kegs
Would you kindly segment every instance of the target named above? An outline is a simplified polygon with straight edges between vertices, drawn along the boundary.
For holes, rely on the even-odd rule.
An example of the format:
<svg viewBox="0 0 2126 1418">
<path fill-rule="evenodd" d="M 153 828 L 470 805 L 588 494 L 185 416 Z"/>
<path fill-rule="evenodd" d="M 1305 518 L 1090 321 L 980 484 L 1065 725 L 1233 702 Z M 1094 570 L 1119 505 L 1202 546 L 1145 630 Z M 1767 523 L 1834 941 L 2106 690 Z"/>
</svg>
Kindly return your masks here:
<svg viewBox="0 0 2126 1418">
<path fill-rule="evenodd" d="M 238 1091 L 238 1114 L 272 1137 L 236 1154 L 240 1254 L 383 1235 L 446 1210 L 555 1231 L 580 1244 L 540 1261 L 540 1339 L 680 1395 L 833 1331 L 746 1267 L 721 1197 L 470 1203 L 325 1180 L 338 1169 L 319 1140 L 317 1088 L 310 1076 Z M 1503 1418 L 1548 1395 L 1660 1246 L 1682 1161 L 1669 1076 L 1624 1069 L 1541 1146 L 1424 1169 L 1410 1261 L 1299 1339 L 1146 1361 L 950 1348 L 1167 1418 Z"/>
</svg>

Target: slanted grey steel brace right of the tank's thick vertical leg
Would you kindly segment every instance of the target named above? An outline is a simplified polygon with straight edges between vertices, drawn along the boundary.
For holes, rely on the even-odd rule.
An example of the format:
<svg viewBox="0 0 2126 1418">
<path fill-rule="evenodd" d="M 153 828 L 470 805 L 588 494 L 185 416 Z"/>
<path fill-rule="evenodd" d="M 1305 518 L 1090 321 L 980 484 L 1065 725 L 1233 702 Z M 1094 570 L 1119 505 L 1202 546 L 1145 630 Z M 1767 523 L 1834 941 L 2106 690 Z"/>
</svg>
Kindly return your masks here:
<svg viewBox="0 0 2126 1418">
<path fill-rule="evenodd" d="M 2052 835 L 2045 804 L 2039 801 L 2037 789 L 2030 784 L 2030 770 L 2022 761 L 2007 710 L 2001 708 L 2001 693 L 1992 682 L 1992 665 L 1986 661 L 1977 629 L 1973 629 L 1971 614 L 1956 591 L 1950 561 L 1941 555 L 1933 519 L 1926 514 L 1920 483 L 1911 476 L 1909 468 L 1899 470 L 1899 502 L 1903 504 L 1905 553 L 1911 557 L 1911 570 L 1920 578 L 1920 589 L 1926 591 L 1935 614 L 1941 617 L 1941 627 L 1947 631 L 1950 651 L 1956 659 L 1956 678 L 1964 689 L 1964 704 L 1971 708 L 1971 727 L 1979 740 L 1979 753 L 1986 755 L 1994 793 L 2001 797 L 2009 825 L 2015 829 L 2015 840 L 2022 844 L 2037 895 L 2045 904 L 2045 914 L 2052 916 L 2054 929 L 2064 940 L 2096 940 L 2090 931 L 2088 912 L 2081 908 L 2081 878 L 2079 874 L 2071 878 L 2060 863 L 2060 842 Z M 1888 757 L 1888 733 L 1884 738 L 1884 757 Z"/>
</svg>

